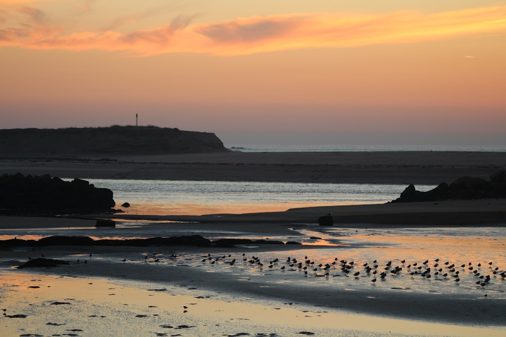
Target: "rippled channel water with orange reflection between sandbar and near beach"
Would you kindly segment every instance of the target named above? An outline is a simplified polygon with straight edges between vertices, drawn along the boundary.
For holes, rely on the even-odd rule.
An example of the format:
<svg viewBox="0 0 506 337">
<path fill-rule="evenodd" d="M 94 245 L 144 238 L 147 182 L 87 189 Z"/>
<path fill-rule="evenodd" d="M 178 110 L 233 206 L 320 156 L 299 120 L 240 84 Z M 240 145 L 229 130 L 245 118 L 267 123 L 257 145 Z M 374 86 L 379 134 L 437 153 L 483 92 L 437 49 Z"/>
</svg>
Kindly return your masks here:
<svg viewBox="0 0 506 337">
<path fill-rule="evenodd" d="M 406 185 L 191 180 L 86 179 L 113 191 L 116 208 L 130 214 L 202 215 L 285 211 L 290 208 L 383 204 Z M 435 185 L 417 185 L 429 190 Z M 124 202 L 131 207 L 122 208 Z"/>
</svg>

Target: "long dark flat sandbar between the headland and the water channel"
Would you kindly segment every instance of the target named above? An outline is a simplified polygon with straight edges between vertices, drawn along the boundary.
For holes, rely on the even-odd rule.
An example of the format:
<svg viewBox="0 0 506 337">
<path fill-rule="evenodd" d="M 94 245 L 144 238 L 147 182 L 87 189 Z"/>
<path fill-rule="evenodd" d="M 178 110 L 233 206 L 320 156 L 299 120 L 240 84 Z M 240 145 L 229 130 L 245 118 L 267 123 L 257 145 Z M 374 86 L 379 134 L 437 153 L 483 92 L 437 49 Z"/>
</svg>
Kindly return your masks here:
<svg viewBox="0 0 506 337">
<path fill-rule="evenodd" d="M 329 183 L 450 183 L 488 178 L 506 167 L 504 152 L 286 152 L 158 156 L 0 158 L 0 172 L 60 178 L 283 181 Z"/>
</svg>

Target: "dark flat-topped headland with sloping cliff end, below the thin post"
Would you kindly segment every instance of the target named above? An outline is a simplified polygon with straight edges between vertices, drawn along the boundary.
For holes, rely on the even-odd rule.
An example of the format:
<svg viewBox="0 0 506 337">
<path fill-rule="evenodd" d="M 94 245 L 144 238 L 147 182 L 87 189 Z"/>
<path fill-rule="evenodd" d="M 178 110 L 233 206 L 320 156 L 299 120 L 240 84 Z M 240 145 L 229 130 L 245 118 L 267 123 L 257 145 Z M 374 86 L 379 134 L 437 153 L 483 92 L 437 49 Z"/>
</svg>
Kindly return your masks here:
<svg viewBox="0 0 506 337">
<path fill-rule="evenodd" d="M 156 126 L 0 130 L 0 155 L 154 155 L 227 151 L 209 132 Z"/>
</svg>

